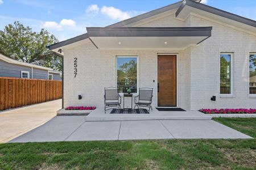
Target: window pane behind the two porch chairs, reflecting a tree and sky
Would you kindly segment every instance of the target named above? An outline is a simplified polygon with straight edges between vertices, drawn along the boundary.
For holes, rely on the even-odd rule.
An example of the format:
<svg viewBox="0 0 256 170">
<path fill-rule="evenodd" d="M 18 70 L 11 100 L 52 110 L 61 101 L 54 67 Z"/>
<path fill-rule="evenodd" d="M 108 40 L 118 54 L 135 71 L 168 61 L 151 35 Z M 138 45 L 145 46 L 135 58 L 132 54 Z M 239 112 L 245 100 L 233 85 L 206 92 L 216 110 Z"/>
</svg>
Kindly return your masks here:
<svg viewBox="0 0 256 170">
<path fill-rule="evenodd" d="M 137 58 L 117 57 L 117 88 L 120 93 L 128 89 L 137 93 Z"/>
</svg>

